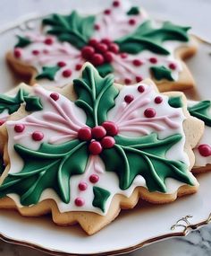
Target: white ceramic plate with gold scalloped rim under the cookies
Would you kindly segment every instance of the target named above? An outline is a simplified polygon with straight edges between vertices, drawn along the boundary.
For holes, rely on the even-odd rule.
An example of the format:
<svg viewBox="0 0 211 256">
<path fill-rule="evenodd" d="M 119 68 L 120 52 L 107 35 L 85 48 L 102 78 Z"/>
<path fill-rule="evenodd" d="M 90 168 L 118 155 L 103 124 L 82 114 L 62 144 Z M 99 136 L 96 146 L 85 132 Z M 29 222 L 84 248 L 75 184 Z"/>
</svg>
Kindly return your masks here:
<svg viewBox="0 0 211 256">
<path fill-rule="evenodd" d="M 17 83 L 4 63 L 4 53 L 13 48 L 14 33 L 18 29 L 20 28 L 12 27 L 10 30 L 0 31 L 2 93 Z M 201 42 L 198 54 L 188 62 L 198 84 L 197 90 L 187 92 L 194 99 L 211 99 L 210 53 L 211 45 Z M 185 235 L 191 229 L 208 223 L 211 213 L 211 172 L 199 175 L 198 181 L 200 189 L 197 194 L 168 205 L 140 204 L 133 210 L 124 210 L 111 225 L 92 236 L 84 234 L 79 226 L 56 226 L 47 216 L 27 218 L 16 212 L 0 210 L 0 237 L 10 243 L 58 255 L 114 255 L 131 252 L 167 237 Z"/>
</svg>

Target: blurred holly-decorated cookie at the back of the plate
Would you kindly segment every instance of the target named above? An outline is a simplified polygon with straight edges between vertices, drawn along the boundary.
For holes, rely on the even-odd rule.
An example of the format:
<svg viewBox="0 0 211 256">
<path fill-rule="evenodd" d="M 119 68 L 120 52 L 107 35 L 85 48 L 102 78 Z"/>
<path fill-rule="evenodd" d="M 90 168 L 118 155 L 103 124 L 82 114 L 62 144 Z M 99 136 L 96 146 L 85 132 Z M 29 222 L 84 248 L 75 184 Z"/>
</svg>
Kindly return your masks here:
<svg viewBox="0 0 211 256">
<path fill-rule="evenodd" d="M 114 1 L 97 15 L 52 14 L 39 28 L 18 35 L 7 60 L 30 84 L 72 83 L 89 61 L 100 75 L 115 82 L 136 84 L 152 77 L 160 91 L 193 86 L 181 59 L 196 51 L 188 31 L 172 22 L 156 22 L 139 7 Z"/>
</svg>

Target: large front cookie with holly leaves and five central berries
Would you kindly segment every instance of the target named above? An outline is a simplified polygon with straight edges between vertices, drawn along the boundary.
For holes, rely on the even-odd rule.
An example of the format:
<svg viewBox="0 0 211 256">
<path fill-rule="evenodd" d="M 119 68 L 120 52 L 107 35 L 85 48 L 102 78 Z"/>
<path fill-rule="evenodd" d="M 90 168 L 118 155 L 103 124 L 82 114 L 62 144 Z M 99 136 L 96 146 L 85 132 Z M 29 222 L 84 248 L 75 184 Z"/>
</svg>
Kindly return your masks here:
<svg viewBox="0 0 211 256">
<path fill-rule="evenodd" d="M 114 84 L 89 64 L 73 86 L 31 92 L 42 110 L 20 109 L 1 129 L 0 207 L 52 212 L 56 224 L 94 234 L 139 198 L 168 203 L 198 190 L 191 147 L 204 124 L 182 93 L 158 93 L 151 81 Z"/>
</svg>

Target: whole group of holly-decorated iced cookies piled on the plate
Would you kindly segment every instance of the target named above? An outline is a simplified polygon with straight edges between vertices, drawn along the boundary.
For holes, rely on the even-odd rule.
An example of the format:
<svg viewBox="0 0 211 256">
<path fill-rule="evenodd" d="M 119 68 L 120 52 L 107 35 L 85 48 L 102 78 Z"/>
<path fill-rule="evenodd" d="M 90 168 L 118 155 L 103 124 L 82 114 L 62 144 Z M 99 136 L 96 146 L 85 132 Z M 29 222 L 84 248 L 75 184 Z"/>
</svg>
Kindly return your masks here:
<svg viewBox="0 0 211 256">
<path fill-rule="evenodd" d="M 194 86 L 190 27 L 119 0 L 39 22 L 6 54 L 26 84 L 0 95 L 0 208 L 95 234 L 138 201 L 197 192 L 211 119 L 210 101 L 181 92 Z"/>
</svg>

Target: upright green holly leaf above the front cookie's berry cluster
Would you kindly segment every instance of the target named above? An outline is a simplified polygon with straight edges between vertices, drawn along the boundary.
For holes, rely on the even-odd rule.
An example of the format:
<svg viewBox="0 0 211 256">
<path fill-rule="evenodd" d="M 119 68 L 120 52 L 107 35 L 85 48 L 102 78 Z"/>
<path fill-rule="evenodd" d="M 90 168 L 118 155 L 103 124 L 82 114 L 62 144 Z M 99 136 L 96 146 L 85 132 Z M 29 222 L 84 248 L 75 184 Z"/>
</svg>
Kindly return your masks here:
<svg viewBox="0 0 211 256">
<path fill-rule="evenodd" d="M 107 112 L 114 107 L 119 91 L 114 87 L 114 76 L 102 78 L 94 66 L 87 65 L 80 79 L 73 81 L 78 96 L 75 104 L 87 114 L 87 125 L 95 127 L 107 120 Z"/>
</svg>

